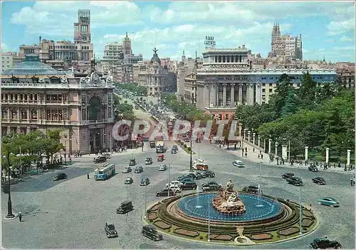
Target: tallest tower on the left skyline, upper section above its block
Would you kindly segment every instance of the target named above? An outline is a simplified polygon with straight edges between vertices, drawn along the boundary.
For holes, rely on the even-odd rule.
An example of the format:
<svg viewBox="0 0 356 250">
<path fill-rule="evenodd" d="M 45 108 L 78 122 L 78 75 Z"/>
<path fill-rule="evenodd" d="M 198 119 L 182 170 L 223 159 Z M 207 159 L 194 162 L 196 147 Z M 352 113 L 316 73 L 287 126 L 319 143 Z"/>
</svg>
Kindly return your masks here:
<svg viewBox="0 0 356 250">
<path fill-rule="evenodd" d="M 74 43 L 90 43 L 90 10 L 78 10 L 78 23 L 74 23 Z"/>
</svg>

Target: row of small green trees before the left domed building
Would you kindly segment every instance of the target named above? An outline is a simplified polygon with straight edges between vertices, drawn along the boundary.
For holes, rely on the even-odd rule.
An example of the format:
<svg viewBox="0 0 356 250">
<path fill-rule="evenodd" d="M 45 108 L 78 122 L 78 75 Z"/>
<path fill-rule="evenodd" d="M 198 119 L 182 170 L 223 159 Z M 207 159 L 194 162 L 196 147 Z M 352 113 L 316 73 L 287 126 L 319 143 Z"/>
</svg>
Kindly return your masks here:
<svg viewBox="0 0 356 250">
<path fill-rule="evenodd" d="M 28 134 L 6 134 L 1 138 L 1 164 L 4 167 L 21 167 L 41 165 L 43 156 L 48 163 L 53 163 L 53 155 L 65 150 L 61 140 L 63 129 L 50 129 L 46 134 L 42 131 L 31 131 Z"/>
</svg>

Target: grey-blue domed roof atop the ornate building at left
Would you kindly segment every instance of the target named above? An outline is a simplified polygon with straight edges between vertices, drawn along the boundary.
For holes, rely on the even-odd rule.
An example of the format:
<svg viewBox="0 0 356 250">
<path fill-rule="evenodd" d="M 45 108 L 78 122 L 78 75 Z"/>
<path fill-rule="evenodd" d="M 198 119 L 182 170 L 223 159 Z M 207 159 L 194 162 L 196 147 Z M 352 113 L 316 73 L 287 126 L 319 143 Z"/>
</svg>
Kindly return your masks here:
<svg viewBox="0 0 356 250">
<path fill-rule="evenodd" d="M 1 75 L 65 75 L 65 73 L 39 62 L 38 55 L 26 55 L 25 62 L 15 63 L 12 69 L 5 70 Z"/>
</svg>

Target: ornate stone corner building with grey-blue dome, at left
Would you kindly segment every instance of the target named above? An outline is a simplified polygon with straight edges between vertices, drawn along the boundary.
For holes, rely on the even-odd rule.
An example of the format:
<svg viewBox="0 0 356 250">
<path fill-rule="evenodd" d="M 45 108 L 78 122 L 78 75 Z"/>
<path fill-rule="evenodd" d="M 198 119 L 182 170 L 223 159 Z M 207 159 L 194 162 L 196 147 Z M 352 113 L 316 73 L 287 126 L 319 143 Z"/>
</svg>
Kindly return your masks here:
<svg viewBox="0 0 356 250">
<path fill-rule="evenodd" d="M 94 67 L 92 60 L 91 74 L 75 77 L 26 55 L 2 72 L 1 134 L 61 128 L 67 153 L 110 147 L 112 77 L 100 77 Z"/>
</svg>

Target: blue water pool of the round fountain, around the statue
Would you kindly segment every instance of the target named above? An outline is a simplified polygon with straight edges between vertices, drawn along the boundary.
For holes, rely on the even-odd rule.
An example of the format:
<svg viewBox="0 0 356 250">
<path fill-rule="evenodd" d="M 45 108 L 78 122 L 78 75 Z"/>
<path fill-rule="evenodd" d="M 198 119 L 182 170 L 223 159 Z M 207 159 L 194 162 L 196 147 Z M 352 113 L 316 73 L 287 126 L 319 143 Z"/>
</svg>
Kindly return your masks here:
<svg viewBox="0 0 356 250">
<path fill-rule="evenodd" d="M 251 222 L 261 219 L 276 217 L 283 207 L 281 204 L 268 197 L 258 197 L 252 194 L 239 194 L 239 198 L 246 206 L 244 214 L 222 214 L 212 205 L 215 193 L 199 194 L 183 197 L 177 206 L 184 214 L 189 217 L 199 219 L 209 219 L 212 221 L 225 222 Z"/>
</svg>

